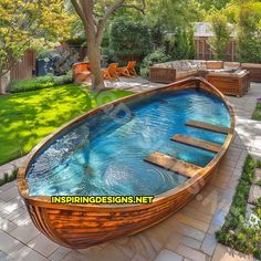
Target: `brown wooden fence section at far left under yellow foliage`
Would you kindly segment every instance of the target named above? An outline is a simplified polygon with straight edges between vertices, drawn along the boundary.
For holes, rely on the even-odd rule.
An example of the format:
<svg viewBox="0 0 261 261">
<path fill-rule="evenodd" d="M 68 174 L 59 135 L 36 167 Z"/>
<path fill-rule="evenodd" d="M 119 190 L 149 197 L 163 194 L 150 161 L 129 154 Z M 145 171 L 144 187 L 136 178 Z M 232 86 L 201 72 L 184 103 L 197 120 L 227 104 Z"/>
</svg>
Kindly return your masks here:
<svg viewBox="0 0 261 261">
<path fill-rule="evenodd" d="M 10 80 L 18 81 L 32 77 L 35 72 L 35 52 L 32 50 L 25 51 L 22 59 L 19 62 L 13 63 L 10 70 Z"/>
</svg>

